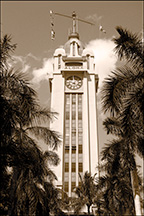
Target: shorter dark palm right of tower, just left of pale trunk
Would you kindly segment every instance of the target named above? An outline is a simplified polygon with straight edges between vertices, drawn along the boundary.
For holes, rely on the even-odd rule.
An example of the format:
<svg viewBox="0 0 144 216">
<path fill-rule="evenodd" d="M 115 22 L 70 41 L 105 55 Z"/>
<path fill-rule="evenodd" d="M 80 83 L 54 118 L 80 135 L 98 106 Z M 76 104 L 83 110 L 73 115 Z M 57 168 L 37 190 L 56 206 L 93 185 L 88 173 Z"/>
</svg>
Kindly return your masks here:
<svg viewBox="0 0 144 216">
<path fill-rule="evenodd" d="M 103 215 L 135 215 L 133 191 L 131 187 L 130 153 L 123 140 L 113 140 L 102 151 L 101 169 L 105 175 L 98 179 Z"/>
</svg>

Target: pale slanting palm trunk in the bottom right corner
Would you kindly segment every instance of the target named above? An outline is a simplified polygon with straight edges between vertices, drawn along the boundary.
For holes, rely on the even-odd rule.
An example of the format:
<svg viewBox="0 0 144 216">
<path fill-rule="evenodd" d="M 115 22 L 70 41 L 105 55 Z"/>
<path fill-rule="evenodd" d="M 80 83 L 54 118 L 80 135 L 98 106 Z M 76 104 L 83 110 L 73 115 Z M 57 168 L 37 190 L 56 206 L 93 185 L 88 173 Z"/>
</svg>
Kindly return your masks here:
<svg viewBox="0 0 144 216">
<path fill-rule="evenodd" d="M 134 196 L 135 213 L 136 216 L 141 216 L 142 211 L 141 211 L 141 203 L 140 203 L 140 192 L 139 192 L 138 176 L 137 176 L 136 169 L 131 171 L 131 181 L 132 181 L 132 190 Z"/>
</svg>

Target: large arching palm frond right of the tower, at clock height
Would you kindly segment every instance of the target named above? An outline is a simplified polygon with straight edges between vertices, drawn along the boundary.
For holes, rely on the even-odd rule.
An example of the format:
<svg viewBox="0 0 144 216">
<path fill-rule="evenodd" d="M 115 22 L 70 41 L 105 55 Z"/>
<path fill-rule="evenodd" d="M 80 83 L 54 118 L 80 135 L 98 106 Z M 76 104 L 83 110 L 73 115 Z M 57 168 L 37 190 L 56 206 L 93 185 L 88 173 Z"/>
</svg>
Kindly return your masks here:
<svg viewBox="0 0 144 216">
<path fill-rule="evenodd" d="M 142 85 L 143 72 L 130 67 L 117 68 L 103 82 L 102 105 L 104 112 L 115 111 L 118 113 L 122 108 L 123 97 L 131 90 L 132 86 Z"/>
</svg>

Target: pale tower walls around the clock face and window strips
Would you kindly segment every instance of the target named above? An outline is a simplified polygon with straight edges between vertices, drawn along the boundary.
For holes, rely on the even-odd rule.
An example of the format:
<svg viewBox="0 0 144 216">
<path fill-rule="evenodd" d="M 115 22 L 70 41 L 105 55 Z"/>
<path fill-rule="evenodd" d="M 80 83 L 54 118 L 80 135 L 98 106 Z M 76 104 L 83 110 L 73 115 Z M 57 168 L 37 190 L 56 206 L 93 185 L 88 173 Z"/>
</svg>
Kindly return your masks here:
<svg viewBox="0 0 144 216">
<path fill-rule="evenodd" d="M 74 42 L 74 39 L 73 39 Z M 77 42 L 77 40 L 76 40 Z M 73 43 L 74 44 L 74 43 Z M 78 43 L 77 43 L 78 44 Z M 76 43 L 75 43 L 76 46 Z M 94 71 L 93 56 L 90 52 L 82 53 L 82 56 L 78 53 L 73 56 L 72 43 L 70 43 L 70 56 L 67 56 L 65 50 L 60 48 L 55 51 L 54 58 L 54 71 L 52 79 L 52 93 L 51 93 L 51 109 L 58 113 L 57 119 L 51 123 L 51 129 L 58 131 L 61 135 L 62 142 L 58 148 L 58 155 L 61 159 L 60 164 L 57 167 L 53 167 L 54 172 L 58 177 L 57 185 L 63 185 L 68 181 L 69 196 L 74 194 L 71 192 L 73 187 L 72 182 L 76 182 L 76 186 L 79 183 L 79 163 L 83 163 L 83 173 L 85 171 L 95 174 L 97 172 L 96 166 L 98 165 L 98 136 L 97 136 L 97 74 Z M 70 64 L 69 64 L 70 63 Z M 71 66 L 70 66 L 71 65 Z M 66 79 L 70 76 L 78 76 L 82 79 L 82 86 L 76 90 L 66 87 Z M 66 96 L 70 97 L 70 142 L 69 142 L 69 155 L 65 153 L 66 143 Z M 72 98 L 76 94 L 76 154 L 72 153 Z M 78 153 L 78 97 L 82 95 L 82 133 L 83 133 L 83 150 L 82 154 Z M 76 172 L 71 172 L 72 163 L 76 163 Z M 69 173 L 65 173 L 66 163 L 69 163 Z M 67 180 L 66 180 L 67 179 Z"/>
</svg>

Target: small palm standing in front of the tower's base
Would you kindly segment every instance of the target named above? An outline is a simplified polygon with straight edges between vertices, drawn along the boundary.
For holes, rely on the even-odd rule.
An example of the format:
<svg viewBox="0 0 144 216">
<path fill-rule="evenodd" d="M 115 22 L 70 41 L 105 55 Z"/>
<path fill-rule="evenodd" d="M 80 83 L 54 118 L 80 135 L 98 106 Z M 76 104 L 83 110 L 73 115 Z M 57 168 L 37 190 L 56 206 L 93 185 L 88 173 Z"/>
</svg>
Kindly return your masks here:
<svg viewBox="0 0 144 216">
<path fill-rule="evenodd" d="M 91 176 L 87 171 L 84 173 L 83 178 L 79 174 L 80 185 L 74 190 L 77 197 L 73 200 L 72 207 L 76 214 L 84 207 L 87 206 L 88 215 L 90 215 L 90 207 L 96 194 L 95 190 L 95 175 Z"/>
</svg>

